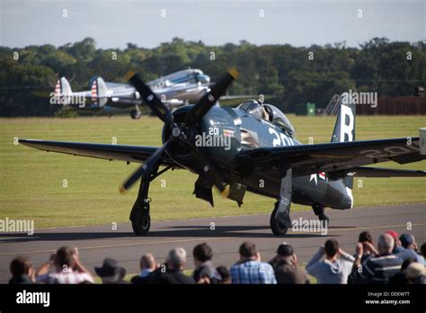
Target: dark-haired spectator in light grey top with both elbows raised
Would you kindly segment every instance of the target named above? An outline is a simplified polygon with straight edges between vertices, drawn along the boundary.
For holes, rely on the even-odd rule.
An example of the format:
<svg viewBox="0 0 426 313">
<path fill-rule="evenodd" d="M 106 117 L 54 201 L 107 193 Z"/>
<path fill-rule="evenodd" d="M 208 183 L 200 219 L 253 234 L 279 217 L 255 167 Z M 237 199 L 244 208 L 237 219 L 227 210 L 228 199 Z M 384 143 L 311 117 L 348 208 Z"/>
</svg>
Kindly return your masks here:
<svg viewBox="0 0 426 313">
<path fill-rule="evenodd" d="M 318 283 L 347 283 L 354 260 L 339 247 L 337 240 L 329 239 L 306 265 L 306 271 Z"/>
</svg>

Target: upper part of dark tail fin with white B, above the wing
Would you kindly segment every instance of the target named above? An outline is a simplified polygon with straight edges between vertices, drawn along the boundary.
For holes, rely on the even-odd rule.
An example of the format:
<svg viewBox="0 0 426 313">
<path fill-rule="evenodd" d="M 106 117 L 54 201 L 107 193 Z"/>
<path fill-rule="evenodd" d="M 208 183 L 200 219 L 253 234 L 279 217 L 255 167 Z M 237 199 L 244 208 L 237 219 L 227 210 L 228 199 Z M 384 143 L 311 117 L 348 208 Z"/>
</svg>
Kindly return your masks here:
<svg viewBox="0 0 426 313">
<path fill-rule="evenodd" d="M 355 140 L 355 103 L 352 95 L 342 94 L 342 101 L 337 113 L 337 121 L 334 125 L 332 142 L 344 142 Z"/>
</svg>

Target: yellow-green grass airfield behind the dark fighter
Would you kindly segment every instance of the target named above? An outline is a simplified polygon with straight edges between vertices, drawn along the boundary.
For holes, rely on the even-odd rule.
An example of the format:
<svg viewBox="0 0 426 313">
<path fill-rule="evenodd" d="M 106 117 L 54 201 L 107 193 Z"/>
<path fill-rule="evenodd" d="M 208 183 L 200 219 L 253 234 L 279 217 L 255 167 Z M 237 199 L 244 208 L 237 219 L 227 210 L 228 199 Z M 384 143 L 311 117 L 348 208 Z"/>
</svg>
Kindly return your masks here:
<svg viewBox="0 0 426 313">
<path fill-rule="evenodd" d="M 303 143 L 310 137 L 315 143 L 330 141 L 335 117 L 288 118 L 297 130 L 297 139 Z M 357 116 L 356 137 L 366 140 L 419 136 L 419 128 L 424 126 L 422 116 Z M 129 221 L 138 184 L 124 196 L 118 187 L 138 164 L 46 153 L 15 145 L 14 139 L 105 144 L 115 139 L 117 144 L 159 146 L 162 127 L 162 121 L 146 116 L 139 121 L 128 116 L 0 119 L 0 219 L 34 219 L 36 228 Z M 377 166 L 426 170 L 426 161 Z M 249 192 L 241 208 L 217 194 L 215 207 L 211 208 L 208 202 L 192 195 L 196 179 L 195 174 L 182 170 L 168 171 L 156 178 L 149 193 L 153 199 L 152 219 L 269 213 L 273 209 L 275 200 Z M 426 201 L 424 178 L 363 178 L 356 179 L 354 184 L 354 210 L 367 205 Z M 292 210 L 311 209 L 293 204 Z"/>
</svg>

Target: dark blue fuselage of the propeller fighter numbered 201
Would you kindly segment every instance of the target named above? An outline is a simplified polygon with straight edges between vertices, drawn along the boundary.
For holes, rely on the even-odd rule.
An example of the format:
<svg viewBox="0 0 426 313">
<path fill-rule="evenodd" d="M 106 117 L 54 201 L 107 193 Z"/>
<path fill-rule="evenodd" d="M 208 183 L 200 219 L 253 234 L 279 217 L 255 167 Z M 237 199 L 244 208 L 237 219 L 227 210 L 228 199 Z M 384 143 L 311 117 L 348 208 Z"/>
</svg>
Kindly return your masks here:
<svg viewBox="0 0 426 313">
<path fill-rule="evenodd" d="M 175 113 L 187 112 L 191 106 L 183 107 Z M 204 134 L 204 137 L 201 135 Z M 241 109 L 212 107 L 203 117 L 200 127 L 201 145 L 198 145 L 210 159 L 219 166 L 227 183 L 241 183 L 248 192 L 278 198 L 280 195 L 280 168 L 268 171 L 250 171 L 238 168 L 235 157 L 240 149 L 277 146 L 296 146 L 301 143 L 279 126 L 263 119 L 257 119 Z M 229 137 L 228 139 L 225 139 Z M 211 139 L 210 142 L 208 139 Z M 216 141 L 213 139 L 216 138 Z M 184 157 L 169 154 L 177 163 L 193 173 L 200 173 Z M 333 209 L 351 209 L 353 198 L 351 189 L 342 179 L 332 180 L 326 173 L 293 176 L 292 202 L 303 205 L 321 204 Z"/>
</svg>

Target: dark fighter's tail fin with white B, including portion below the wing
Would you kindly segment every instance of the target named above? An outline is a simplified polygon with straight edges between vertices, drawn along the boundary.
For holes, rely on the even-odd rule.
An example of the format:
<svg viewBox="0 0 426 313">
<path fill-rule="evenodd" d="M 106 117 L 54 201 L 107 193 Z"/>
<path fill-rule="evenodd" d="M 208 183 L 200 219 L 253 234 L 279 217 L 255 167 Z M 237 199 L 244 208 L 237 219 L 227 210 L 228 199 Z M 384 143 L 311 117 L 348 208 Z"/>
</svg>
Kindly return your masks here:
<svg viewBox="0 0 426 313">
<path fill-rule="evenodd" d="M 332 142 L 345 142 L 355 140 L 355 116 L 356 105 L 352 95 L 349 93 L 342 94 L 342 101 L 337 113 L 337 121 L 334 125 Z M 350 207 L 353 207 L 353 177 L 346 175 L 341 178 L 345 187 L 347 201 L 350 201 Z"/>
</svg>

